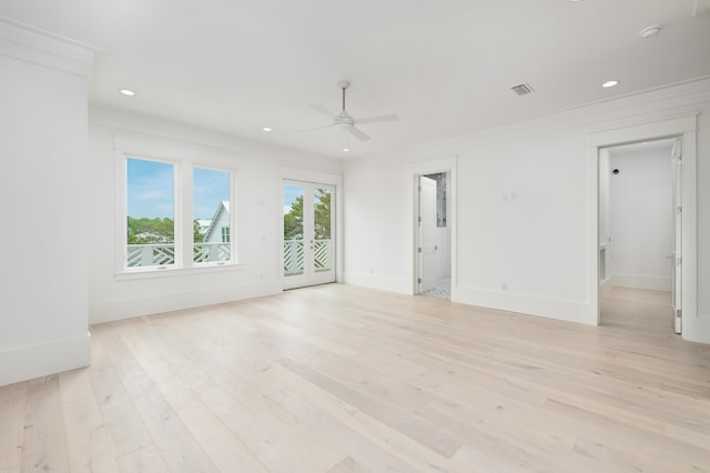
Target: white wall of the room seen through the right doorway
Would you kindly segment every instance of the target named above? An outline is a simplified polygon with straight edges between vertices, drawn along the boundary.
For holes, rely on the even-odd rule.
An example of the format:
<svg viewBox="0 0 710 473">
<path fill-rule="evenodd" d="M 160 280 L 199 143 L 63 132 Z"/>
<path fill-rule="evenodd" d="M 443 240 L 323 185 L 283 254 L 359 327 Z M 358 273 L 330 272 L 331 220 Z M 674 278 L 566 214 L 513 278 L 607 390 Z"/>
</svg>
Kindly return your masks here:
<svg viewBox="0 0 710 473">
<path fill-rule="evenodd" d="M 672 141 L 643 150 L 611 148 L 610 174 L 612 285 L 671 290 Z"/>
</svg>

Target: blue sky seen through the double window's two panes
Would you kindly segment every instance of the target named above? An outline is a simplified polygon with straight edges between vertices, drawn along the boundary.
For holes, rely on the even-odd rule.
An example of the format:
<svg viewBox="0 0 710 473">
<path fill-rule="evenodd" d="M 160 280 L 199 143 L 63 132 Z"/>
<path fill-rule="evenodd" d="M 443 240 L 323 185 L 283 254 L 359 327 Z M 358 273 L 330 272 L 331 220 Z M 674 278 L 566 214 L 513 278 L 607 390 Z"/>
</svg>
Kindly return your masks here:
<svg viewBox="0 0 710 473">
<path fill-rule="evenodd" d="M 174 219 L 173 164 L 129 159 L 128 214 Z M 212 219 L 221 201 L 230 200 L 230 174 L 193 169 L 193 219 Z"/>
</svg>

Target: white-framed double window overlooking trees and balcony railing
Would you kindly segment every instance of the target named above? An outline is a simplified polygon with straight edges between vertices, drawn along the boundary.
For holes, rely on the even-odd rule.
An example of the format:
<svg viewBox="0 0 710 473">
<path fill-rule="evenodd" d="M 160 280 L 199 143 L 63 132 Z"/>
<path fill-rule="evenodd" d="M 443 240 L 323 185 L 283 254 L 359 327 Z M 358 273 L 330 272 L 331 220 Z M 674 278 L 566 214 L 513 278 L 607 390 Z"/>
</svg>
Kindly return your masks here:
<svg viewBox="0 0 710 473">
<path fill-rule="evenodd" d="M 234 173 L 120 152 L 120 272 L 236 263 Z"/>
</svg>

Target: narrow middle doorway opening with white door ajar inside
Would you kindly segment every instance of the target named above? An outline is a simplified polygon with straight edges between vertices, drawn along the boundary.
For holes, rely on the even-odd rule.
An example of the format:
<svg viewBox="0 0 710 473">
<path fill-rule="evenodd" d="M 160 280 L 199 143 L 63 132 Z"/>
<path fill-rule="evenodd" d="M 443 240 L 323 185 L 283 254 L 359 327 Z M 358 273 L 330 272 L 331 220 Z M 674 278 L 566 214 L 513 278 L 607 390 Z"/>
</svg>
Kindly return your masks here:
<svg viewBox="0 0 710 473">
<path fill-rule="evenodd" d="M 452 298 L 452 173 L 417 175 L 416 293 Z"/>
</svg>

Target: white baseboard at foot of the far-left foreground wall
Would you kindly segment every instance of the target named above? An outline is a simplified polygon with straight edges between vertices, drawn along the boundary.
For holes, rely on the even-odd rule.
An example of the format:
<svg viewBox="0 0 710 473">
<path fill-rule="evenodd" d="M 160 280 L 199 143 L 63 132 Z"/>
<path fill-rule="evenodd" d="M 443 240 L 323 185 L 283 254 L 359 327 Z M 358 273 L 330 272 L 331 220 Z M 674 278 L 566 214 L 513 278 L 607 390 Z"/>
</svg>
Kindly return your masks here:
<svg viewBox="0 0 710 473">
<path fill-rule="evenodd" d="M 91 364 L 91 335 L 0 352 L 0 386 Z"/>
</svg>

